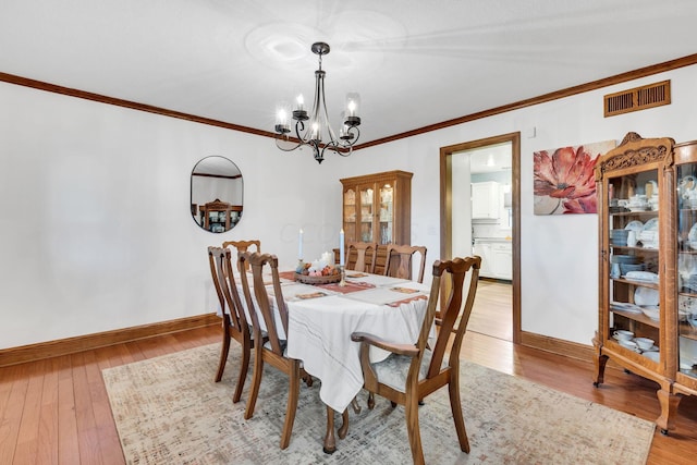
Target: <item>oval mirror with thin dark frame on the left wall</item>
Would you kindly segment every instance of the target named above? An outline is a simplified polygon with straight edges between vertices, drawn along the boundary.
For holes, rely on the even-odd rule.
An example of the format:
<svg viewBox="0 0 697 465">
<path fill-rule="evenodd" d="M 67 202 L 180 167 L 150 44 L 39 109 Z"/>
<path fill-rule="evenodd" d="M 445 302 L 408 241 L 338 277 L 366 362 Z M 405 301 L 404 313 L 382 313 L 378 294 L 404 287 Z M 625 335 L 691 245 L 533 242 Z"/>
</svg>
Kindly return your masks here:
<svg viewBox="0 0 697 465">
<path fill-rule="evenodd" d="M 242 219 L 242 173 L 235 163 L 217 155 L 192 170 L 192 218 L 201 229 L 222 233 Z"/>
</svg>

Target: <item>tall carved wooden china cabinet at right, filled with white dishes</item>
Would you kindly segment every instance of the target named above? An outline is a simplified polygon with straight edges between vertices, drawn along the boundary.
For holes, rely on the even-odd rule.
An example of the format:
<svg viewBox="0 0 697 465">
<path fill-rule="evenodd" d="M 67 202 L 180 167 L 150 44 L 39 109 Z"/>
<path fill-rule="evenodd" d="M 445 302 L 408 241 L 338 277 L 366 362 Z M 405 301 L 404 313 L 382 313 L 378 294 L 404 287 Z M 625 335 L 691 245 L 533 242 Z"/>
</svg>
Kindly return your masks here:
<svg viewBox="0 0 697 465">
<path fill-rule="evenodd" d="M 594 383 L 609 359 L 656 381 L 656 425 L 668 433 L 682 395 L 697 394 L 697 142 L 628 133 L 598 160 L 596 183 Z"/>
</svg>

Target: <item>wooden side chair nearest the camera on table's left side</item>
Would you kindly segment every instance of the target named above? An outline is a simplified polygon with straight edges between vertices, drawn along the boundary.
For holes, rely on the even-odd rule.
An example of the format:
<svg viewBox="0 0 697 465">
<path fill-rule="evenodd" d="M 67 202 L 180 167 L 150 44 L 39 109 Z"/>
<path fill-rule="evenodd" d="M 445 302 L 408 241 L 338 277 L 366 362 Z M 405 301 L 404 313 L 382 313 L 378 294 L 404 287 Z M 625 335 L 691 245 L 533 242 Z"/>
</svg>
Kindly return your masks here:
<svg viewBox="0 0 697 465">
<path fill-rule="evenodd" d="M 278 258 L 276 255 L 241 252 L 239 254 L 240 269 L 245 265 L 252 268 L 253 284 L 249 285 L 247 273 L 241 273 L 242 289 L 247 302 L 247 308 L 253 320 L 254 336 L 256 340 L 262 338 L 260 319 L 266 326 L 266 334 L 268 341 L 264 344 L 255 345 L 254 356 L 254 377 L 252 379 L 252 390 L 247 400 L 247 407 L 244 412 L 244 418 L 249 419 L 254 415 L 254 408 L 261 386 L 261 375 L 264 374 L 264 364 L 268 363 L 289 376 L 288 404 L 285 407 L 285 423 L 281 432 L 281 449 L 288 448 L 291 442 L 291 432 L 293 431 L 293 423 L 295 421 L 295 411 L 297 409 L 297 396 L 299 394 L 301 379 L 311 386 L 311 378 L 302 368 L 301 360 L 285 356 L 285 340 L 279 335 L 279 328 L 276 325 L 274 311 L 278 311 L 281 325 L 283 326 L 283 334 L 288 334 L 288 307 L 283 299 L 281 291 L 281 281 L 279 279 Z M 276 306 L 272 305 L 269 294 L 264 283 L 264 268 L 271 269 L 271 279 L 273 283 L 273 295 Z M 254 292 L 254 296 L 252 293 Z"/>
</svg>

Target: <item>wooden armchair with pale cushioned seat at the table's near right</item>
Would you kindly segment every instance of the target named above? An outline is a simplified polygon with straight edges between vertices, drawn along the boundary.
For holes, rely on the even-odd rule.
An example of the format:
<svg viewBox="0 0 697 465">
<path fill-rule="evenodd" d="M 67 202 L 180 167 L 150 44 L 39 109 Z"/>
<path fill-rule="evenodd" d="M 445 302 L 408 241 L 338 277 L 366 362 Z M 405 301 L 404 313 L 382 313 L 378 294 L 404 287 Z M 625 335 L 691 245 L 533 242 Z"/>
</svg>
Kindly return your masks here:
<svg viewBox="0 0 697 465">
<path fill-rule="evenodd" d="M 365 389 L 370 393 L 387 397 L 392 402 L 393 407 L 396 404 L 404 405 L 406 429 L 415 464 L 424 463 L 418 426 L 419 402 L 445 384 L 448 384 L 450 392 L 450 408 L 455 421 L 460 449 L 469 452 L 469 441 L 460 404 L 458 354 L 475 301 L 480 265 L 481 258 L 478 256 L 454 258 L 448 261 L 437 260 L 433 264 L 431 291 L 416 344 L 395 344 L 360 332 L 351 335 L 353 341 L 360 342 L 360 365 L 365 378 Z M 444 310 L 441 309 L 441 318 L 436 321 L 441 327 L 438 338 L 435 345 L 429 346 L 428 336 L 436 319 L 443 273 L 450 278 L 451 287 L 444 299 L 447 306 Z M 467 277 L 468 274 L 469 277 Z M 467 292 L 463 293 L 467 278 L 469 278 L 469 285 Z M 449 338 L 453 331 L 455 336 L 452 341 L 450 355 L 448 355 L 448 362 L 444 364 L 443 358 Z M 383 362 L 371 364 L 369 358 L 371 345 L 392 354 Z"/>
</svg>

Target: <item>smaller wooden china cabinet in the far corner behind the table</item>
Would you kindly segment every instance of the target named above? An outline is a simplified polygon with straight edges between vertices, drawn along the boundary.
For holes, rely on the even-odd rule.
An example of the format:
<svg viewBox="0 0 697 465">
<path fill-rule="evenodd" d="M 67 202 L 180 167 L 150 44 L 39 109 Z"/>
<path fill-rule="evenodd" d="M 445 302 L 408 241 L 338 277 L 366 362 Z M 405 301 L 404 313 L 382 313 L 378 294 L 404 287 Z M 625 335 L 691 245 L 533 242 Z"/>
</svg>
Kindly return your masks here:
<svg viewBox="0 0 697 465">
<path fill-rule="evenodd" d="M 379 245 L 376 272 L 384 266 L 388 244 L 411 244 L 412 176 L 388 171 L 341 180 L 345 241 Z"/>
</svg>

